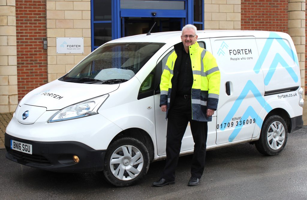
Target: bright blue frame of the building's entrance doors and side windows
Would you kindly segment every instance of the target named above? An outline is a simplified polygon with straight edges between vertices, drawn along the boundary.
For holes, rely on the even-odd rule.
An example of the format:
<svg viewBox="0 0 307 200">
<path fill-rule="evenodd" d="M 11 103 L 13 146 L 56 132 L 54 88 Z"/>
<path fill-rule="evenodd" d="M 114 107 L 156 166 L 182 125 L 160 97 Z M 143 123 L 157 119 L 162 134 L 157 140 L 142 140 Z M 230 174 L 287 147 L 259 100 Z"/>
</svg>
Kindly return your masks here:
<svg viewBox="0 0 307 200">
<path fill-rule="evenodd" d="M 111 23 L 112 40 L 120 38 L 122 35 L 121 17 L 153 17 L 151 13 L 155 12 L 154 17 L 165 18 L 185 18 L 185 24 L 201 24 L 204 28 L 204 1 L 202 1 L 202 22 L 193 21 L 193 0 L 185 1 L 185 10 L 164 10 L 164 9 L 120 9 L 120 0 L 112 0 L 112 20 L 111 21 L 94 21 L 94 3 L 91 0 L 91 47 L 92 51 L 98 46 L 94 46 L 94 24 Z M 176 1 L 176 0 L 168 0 Z M 178 1 L 178 0 L 177 0 Z M 181 23 L 182 26 L 185 25 Z"/>
</svg>

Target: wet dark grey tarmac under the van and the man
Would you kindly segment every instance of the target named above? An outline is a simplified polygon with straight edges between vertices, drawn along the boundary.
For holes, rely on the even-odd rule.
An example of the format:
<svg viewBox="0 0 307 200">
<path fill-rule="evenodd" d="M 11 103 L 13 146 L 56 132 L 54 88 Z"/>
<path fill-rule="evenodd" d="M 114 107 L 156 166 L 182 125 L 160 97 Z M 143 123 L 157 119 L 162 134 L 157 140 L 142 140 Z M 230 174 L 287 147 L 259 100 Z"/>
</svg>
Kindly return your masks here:
<svg viewBox="0 0 307 200">
<path fill-rule="evenodd" d="M 200 185 L 188 187 L 192 156 L 180 157 L 176 183 L 152 187 L 165 161 L 153 162 L 145 179 L 113 187 L 103 173 L 55 173 L 5 158 L 0 149 L 0 199 L 307 199 L 307 126 L 288 135 L 277 156 L 241 144 L 207 152 Z"/>
</svg>

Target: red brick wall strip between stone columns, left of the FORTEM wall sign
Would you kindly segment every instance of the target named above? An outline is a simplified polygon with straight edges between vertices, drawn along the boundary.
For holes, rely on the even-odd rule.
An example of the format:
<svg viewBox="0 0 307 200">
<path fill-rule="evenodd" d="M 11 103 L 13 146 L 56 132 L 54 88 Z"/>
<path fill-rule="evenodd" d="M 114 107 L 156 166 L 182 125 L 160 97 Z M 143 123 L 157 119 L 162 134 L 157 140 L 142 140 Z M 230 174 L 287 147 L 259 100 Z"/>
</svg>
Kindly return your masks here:
<svg viewBox="0 0 307 200">
<path fill-rule="evenodd" d="M 31 90 L 48 82 L 46 1 L 16 0 L 18 101 Z"/>
</svg>

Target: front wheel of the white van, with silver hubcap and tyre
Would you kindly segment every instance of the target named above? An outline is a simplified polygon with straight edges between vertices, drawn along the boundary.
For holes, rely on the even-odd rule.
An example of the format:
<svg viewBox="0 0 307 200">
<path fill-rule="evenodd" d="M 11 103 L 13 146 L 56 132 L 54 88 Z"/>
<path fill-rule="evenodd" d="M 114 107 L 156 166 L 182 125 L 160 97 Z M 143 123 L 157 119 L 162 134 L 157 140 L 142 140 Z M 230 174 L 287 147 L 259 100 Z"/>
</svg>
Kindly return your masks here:
<svg viewBox="0 0 307 200">
<path fill-rule="evenodd" d="M 104 160 L 104 176 L 108 182 L 123 187 L 142 179 L 149 168 L 146 146 L 135 138 L 120 138 L 107 150 Z"/>
</svg>

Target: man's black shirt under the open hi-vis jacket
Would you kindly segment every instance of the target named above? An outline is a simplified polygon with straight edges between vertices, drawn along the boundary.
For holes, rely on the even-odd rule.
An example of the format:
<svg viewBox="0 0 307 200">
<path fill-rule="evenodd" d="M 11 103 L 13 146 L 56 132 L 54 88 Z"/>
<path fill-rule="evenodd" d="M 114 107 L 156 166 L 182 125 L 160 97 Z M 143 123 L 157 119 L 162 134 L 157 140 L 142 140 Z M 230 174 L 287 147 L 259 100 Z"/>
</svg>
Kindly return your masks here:
<svg viewBox="0 0 307 200">
<path fill-rule="evenodd" d="M 189 52 L 185 52 L 185 48 L 182 50 L 182 57 L 178 76 L 177 96 L 191 95 L 193 85 L 193 72 L 192 64 Z M 180 58 L 177 58 L 177 61 Z"/>
</svg>

